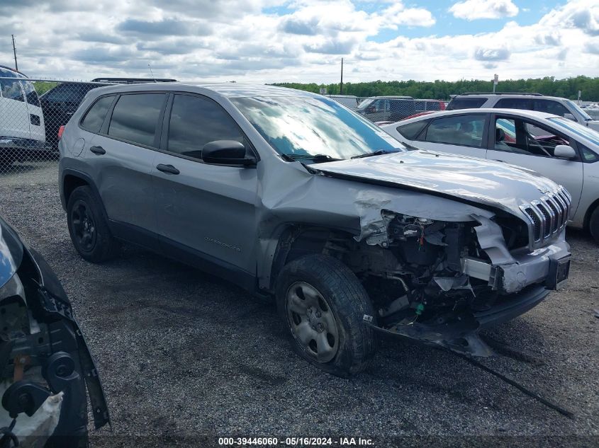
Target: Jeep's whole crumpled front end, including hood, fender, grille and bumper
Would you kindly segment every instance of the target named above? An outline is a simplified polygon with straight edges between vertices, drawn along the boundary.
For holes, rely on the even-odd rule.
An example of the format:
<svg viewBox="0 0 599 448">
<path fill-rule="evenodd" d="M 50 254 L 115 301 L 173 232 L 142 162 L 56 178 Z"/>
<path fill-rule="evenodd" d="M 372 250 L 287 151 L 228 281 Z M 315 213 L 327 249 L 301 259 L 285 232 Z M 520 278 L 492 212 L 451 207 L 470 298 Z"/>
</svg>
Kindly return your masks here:
<svg viewBox="0 0 599 448">
<path fill-rule="evenodd" d="M 571 198 L 531 171 L 423 151 L 289 168 L 264 178 L 264 292 L 286 263 L 323 253 L 364 285 L 376 309 L 366 324 L 488 355 L 478 331 L 568 275 Z"/>
</svg>

